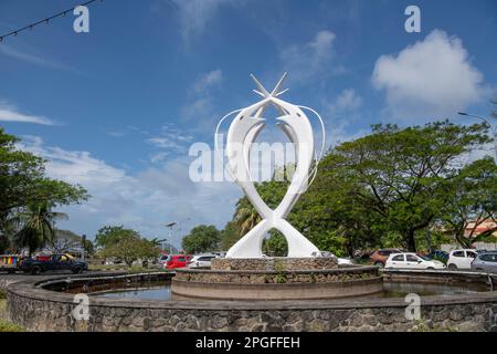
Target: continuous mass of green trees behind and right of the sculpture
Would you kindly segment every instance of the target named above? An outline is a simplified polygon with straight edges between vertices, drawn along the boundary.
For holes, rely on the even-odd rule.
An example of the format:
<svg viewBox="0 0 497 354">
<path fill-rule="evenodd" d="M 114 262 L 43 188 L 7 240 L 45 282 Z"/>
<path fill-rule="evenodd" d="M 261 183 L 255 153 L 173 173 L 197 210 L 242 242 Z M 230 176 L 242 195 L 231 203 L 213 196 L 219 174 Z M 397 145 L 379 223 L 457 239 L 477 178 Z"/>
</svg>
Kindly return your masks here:
<svg viewBox="0 0 497 354">
<path fill-rule="evenodd" d="M 435 227 L 459 235 L 464 244 L 462 235 L 470 220 L 495 220 L 496 165 L 488 157 L 467 159 L 490 140 L 487 133 L 486 124 L 448 121 L 406 128 L 374 125 L 371 134 L 326 154 L 288 221 L 320 250 L 337 256 L 393 246 L 415 251 Z M 275 208 L 287 184 L 265 181 L 256 188 Z M 246 197 L 241 198 L 221 244 L 233 244 L 260 220 Z M 274 230 L 271 235 L 266 248 L 285 251 L 283 237 Z"/>
</svg>

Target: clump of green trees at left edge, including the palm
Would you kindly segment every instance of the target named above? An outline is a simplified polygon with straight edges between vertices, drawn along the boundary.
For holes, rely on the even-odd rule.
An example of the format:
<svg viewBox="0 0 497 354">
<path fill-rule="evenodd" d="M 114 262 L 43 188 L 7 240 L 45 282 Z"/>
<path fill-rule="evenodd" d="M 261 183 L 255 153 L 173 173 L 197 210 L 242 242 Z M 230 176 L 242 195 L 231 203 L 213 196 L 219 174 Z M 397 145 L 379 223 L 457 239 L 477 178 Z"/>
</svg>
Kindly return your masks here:
<svg viewBox="0 0 497 354">
<path fill-rule="evenodd" d="M 24 244 L 32 252 L 53 237 L 45 219 L 57 206 L 89 198 L 81 186 L 44 176 L 46 160 L 17 148 L 19 139 L 0 127 L 0 243 Z"/>
</svg>

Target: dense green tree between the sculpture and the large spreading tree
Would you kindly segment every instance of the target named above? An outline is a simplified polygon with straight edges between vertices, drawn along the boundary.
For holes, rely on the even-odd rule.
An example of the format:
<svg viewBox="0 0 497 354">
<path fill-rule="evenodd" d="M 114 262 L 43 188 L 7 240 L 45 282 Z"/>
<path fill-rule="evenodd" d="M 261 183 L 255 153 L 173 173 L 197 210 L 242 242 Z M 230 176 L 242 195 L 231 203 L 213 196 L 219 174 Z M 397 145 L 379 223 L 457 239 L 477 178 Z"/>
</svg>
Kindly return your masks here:
<svg viewBox="0 0 497 354">
<path fill-rule="evenodd" d="M 342 156 L 329 153 L 288 216 L 289 222 L 316 247 L 337 256 L 352 256 L 357 248 L 374 247 L 376 236 L 381 235 L 372 228 L 371 215 L 353 198 L 363 187 L 350 178 L 345 164 Z"/>
</svg>

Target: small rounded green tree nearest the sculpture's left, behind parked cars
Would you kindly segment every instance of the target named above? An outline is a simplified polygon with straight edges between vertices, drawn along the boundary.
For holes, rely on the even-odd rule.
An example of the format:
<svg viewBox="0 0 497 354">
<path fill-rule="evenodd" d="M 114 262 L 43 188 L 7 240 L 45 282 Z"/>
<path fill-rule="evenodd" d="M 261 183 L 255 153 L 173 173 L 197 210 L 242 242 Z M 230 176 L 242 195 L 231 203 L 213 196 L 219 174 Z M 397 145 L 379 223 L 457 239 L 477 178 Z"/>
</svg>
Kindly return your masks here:
<svg viewBox="0 0 497 354">
<path fill-rule="evenodd" d="M 187 253 L 200 253 L 215 251 L 221 241 L 221 231 L 215 226 L 200 225 L 191 229 L 181 241 L 181 246 Z"/>
</svg>

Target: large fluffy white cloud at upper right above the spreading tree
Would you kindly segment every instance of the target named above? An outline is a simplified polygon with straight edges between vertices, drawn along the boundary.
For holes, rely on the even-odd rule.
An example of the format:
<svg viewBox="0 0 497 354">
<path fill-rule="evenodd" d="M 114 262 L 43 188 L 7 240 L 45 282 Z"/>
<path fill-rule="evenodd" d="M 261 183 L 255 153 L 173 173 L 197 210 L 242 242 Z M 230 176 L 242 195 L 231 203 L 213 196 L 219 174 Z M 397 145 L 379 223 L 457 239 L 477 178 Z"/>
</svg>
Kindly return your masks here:
<svg viewBox="0 0 497 354">
<path fill-rule="evenodd" d="M 441 118 L 489 94 L 456 37 L 434 30 L 398 55 L 382 55 L 372 83 L 387 93 L 388 111 L 399 118 Z"/>
</svg>

